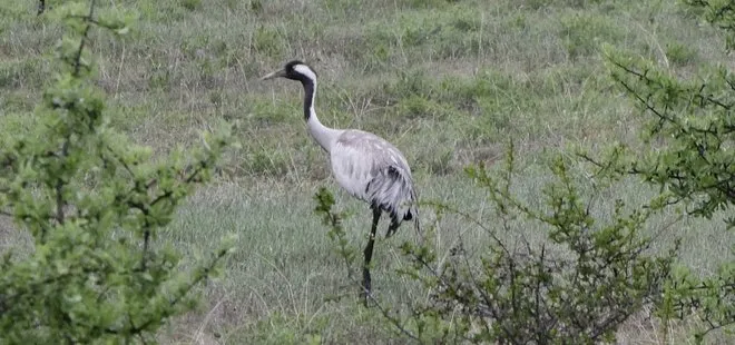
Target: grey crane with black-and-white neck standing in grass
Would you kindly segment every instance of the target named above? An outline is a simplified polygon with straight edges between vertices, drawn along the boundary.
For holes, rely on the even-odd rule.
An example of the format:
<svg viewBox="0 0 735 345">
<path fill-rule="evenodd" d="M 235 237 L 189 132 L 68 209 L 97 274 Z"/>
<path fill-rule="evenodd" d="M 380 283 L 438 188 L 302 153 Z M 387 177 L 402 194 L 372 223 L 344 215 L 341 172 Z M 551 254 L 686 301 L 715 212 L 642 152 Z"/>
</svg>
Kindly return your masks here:
<svg viewBox="0 0 735 345">
<path fill-rule="evenodd" d="M 403 154 L 385 139 L 359 129 L 330 128 L 318 120 L 314 110 L 317 73 L 301 60 L 292 60 L 282 69 L 261 78 L 285 78 L 300 81 L 304 88 L 304 120 L 308 134 L 329 154 L 332 175 L 336 183 L 353 197 L 370 204 L 373 220 L 363 250 L 363 280 L 361 297 L 367 306 L 372 293 L 370 263 L 373 257 L 375 231 L 383 213 L 391 223 L 385 238 L 398 230 L 403 220 L 413 220 L 421 236 L 418 196 L 411 168 Z"/>
</svg>

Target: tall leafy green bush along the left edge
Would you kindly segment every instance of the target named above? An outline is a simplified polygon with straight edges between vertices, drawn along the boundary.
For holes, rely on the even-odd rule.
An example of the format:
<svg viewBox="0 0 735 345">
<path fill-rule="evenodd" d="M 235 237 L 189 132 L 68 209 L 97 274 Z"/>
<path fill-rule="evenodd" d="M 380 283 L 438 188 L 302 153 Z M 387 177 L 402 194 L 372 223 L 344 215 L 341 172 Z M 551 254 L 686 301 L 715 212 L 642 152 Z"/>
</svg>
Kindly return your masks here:
<svg viewBox="0 0 735 345">
<path fill-rule="evenodd" d="M 223 246 L 190 269 L 158 231 L 177 205 L 209 179 L 229 142 L 204 135 L 204 147 L 150 162 L 151 150 L 109 126 L 87 47 L 95 28 L 124 34 L 128 22 L 67 1 L 48 14 L 68 27 L 55 82 L 30 132 L 2 138 L 0 217 L 29 231 L 30 253 L 0 262 L 0 343 L 144 343 L 190 309 L 196 285 L 231 250 Z M 52 16 L 52 17 L 53 17 Z"/>
</svg>

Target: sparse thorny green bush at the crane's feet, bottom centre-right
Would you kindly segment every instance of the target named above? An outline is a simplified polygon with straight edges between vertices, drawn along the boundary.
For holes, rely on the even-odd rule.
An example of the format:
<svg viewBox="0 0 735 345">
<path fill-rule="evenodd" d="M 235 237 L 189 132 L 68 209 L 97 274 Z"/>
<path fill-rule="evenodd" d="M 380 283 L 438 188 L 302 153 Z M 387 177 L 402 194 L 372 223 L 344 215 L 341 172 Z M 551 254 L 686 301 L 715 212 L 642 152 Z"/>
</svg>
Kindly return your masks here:
<svg viewBox="0 0 735 345">
<path fill-rule="evenodd" d="M 405 314 L 384 313 L 402 334 L 422 343 L 611 342 L 631 315 L 660 302 L 677 246 L 651 253 L 653 239 L 644 229 L 665 208 L 665 198 L 636 208 L 618 200 L 609 220 L 596 218 L 568 162 L 558 158 L 550 166 L 556 180 L 546 186 L 545 205 L 537 209 L 511 193 L 512 147 L 506 164 L 500 175 L 482 167 L 467 170 L 487 191 L 500 229 L 449 205 L 433 204 L 438 217 L 458 214 L 467 219 L 461 227 L 479 227 L 489 234 L 492 240 L 483 254 L 468 255 L 460 237 L 450 257 L 439 259 L 427 245 L 432 243 L 432 229 L 423 243 L 404 243 L 403 254 L 411 265 L 400 274 L 419 282 L 429 298 L 406 303 Z M 343 215 L 331 211 L 332 199 L 324 190 L 317 200 L 337 253 L 352 266 L 356 250 L 344 239 Z M 540 230 L 545 241 L 521 237 L 510 243 L 494 235 L 529 226 L 528 219 L 546 229 Z"/>
</svg>

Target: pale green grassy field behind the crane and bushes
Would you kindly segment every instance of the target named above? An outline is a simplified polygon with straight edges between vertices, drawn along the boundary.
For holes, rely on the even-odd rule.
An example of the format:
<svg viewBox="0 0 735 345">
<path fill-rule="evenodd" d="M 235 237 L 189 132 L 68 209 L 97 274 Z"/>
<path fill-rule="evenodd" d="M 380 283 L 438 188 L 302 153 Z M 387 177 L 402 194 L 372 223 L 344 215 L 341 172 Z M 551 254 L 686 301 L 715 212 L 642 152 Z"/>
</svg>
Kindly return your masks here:
<svg viewBox="0 0 735 345">
<path fill-rule="evenodd" d="M 161 334 L 169 343 L 402 343 L 375 322 L 378 310 L 352 303 L 356 289 L 313 213 L 312 196 L 320 186 L 336 194 L 340 209 L 352 215 L 345 226 L 357 247 L 370 225 L 366 205 L 339 191 L 331 178 L 326 156 L 306 134 L 300 86 L 257 80 L 288 60 L 307 61 L 320 73 L 322 122 L 389 139 L 412 165 L 422 200 L 455 205 L 488 223 L 490 206 L 462 169 L 494 165 L 509 139 L 520 164 L 517 193 L 536 206 L 549 180 L 550 152 L 568 146 L 596 150 L 616 140 L 641 146 L 636 131 L 645 118 L 609 79 L 600 45 L 683 76 L 702 62 L 732 67 L 718 32 L 675 1 L 99 2 L 139 16 L 128 39 L 98 33 L 92 47 L 116 127 L 164 154 L 196 145 L 198 131 L 226 119 L 236 124 L 242 144 L 227 156 L 218 181 L 194 195 L 161 238 L 194 257 L 224 234 L 239 234 L 225 277 L 203 288 L 202 308 Z M 35 1 L 2 1 L 0 14 L 2 134 L 33 126 L 61 32 L 48 14 L 36 17 Z M 577 168 L 581 174 L 585 166 Z M 591 203 L 605 217 L 615 198 L 636 205 L 650 195 L 629 179 L 598 190 Z M 421 214 L 423 224 L 434 218 L 429 208 Z M 650 230 L 666 220 L 655 219 Z M 435 226 L 440 257 L 459 234 L 481 253 L 486 235 L 479 229 L 452 217 Z M 545 238 L 543 228 L 518 228 Z M 26 243 L 8 225 L 0 230 L 3 247 Z M 393 274 L 405 264 L 398 246 L 412 235 L 403 230 L 378 243 L 373 284 L 388 303 L 421 297 Z M 735 238 L 721 219 L 685 219 L 664 233 L 661 246 L 675 237 L 684 239 L 682 262 L 703 275 L 733 260 Z M 664 327 L 639 315 L 618 338 L 693 342 L 684 336 L 690 325 L 668 326 L 678 335 L 668 338 Z"/>
</svg>

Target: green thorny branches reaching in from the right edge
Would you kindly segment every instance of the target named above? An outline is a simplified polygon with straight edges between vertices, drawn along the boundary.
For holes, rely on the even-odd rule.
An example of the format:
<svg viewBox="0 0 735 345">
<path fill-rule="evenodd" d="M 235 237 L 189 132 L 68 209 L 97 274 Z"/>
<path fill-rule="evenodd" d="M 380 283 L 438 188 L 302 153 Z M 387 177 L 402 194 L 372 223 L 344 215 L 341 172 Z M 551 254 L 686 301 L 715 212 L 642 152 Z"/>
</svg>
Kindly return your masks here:
<svg viewBox="0 0 735 345">
<path fill-rule="evenodd" d="M 685 2 L 692 12 L 725 30 L 726 48 L 733 48 L 735 1 Z M 683 79 L 653 61 L 612 49 L 606 53 L 612 78 L 650 116 L 643 138 L 658 145 L 647 151 L 617 145 L 601 159 L 581 156 L 600 168 L 600 176 L 635 175 L 668 190 L 667 203 L 683 206 L 689 216 L 712 219 L 732 209 L 735 75 L 725 66 L 709 66 L 696 78 Z M 735 217 L 724 218 L 728 230 L 735 228 Z M 735 262 L 726 262 L 706 277 L 694 275 L 689 267 L 677 267 L 658 307 L 665 321 L 702 318 L 706 326 L 696 334 L 699 341 L 714 329 L 731 332 L 735 324 Z"/>
</svg>

